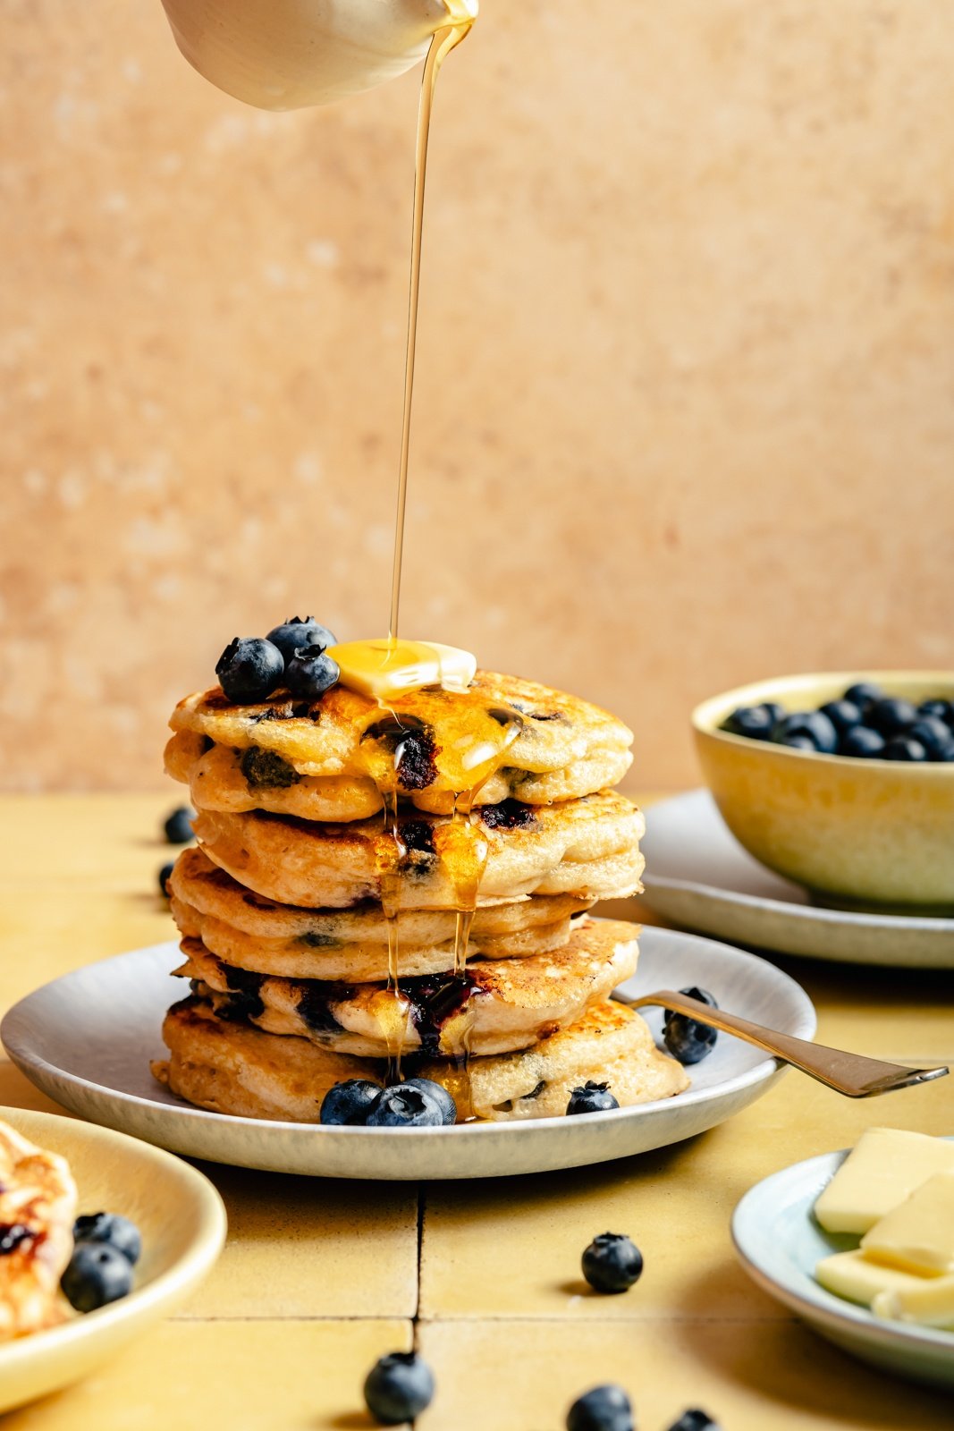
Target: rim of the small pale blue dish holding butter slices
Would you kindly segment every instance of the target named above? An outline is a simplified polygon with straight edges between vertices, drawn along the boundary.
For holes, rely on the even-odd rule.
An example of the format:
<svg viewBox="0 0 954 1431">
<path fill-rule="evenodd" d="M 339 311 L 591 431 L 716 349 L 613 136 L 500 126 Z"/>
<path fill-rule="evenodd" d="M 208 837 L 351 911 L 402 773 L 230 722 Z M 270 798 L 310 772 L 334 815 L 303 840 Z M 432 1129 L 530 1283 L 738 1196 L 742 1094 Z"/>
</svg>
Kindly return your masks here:
<svg viewBox="0 0 954 1431">
<path fill-rule="evenodd" d="M 870 1308 L 837 1296 L 820 1282 L 810 1278 L 808 1274 L 805 1274 L 805 1289 L 792 1288 L 788 1282 L 780 1281 L 767 1269 L 752 1246 L 748 1229 L 755 1224 L 755 1206 L 761 1198 L 771 1193 L 772 1185 L 785 1183 L 798 1173 L 805 1186 L 818 1189 L 820 1179 L 828 1182 L 850 1152 L 850 1148 L 841 1148 L 832 1153 L 817 1153 L 814 1158 L 804 1158 L 801 1162 L 778 1168 L 775 1172 L 752 1183 L 748 1192 L 737 1202 L 729 1225 L 732 1245 L 739 1262 L 752 1281 L 765 1292 L 791 1307 L 800 1315 L 804 1315 L 807 1321 L 821 1321 L 840 1332 L 854 1331 L 860 1339 L 882 1345 L 888 1349 L 907 1348 L 910 1351 L 954 1352 L 954 1331 L 918 1327 L 914 1322 L 892 1322 L 887 1318 L 875 1317 Z M 817 1192 L 814 1196 L 817 1196 Z M 800 1191 L 798 1198 L 794 1201 L 810 1203 L 814 1198 L 810 1192 Z M 808 1205 L 805 1208 L 807 1222 L 810 1218 L 811 1206 Z"/>
</svg>

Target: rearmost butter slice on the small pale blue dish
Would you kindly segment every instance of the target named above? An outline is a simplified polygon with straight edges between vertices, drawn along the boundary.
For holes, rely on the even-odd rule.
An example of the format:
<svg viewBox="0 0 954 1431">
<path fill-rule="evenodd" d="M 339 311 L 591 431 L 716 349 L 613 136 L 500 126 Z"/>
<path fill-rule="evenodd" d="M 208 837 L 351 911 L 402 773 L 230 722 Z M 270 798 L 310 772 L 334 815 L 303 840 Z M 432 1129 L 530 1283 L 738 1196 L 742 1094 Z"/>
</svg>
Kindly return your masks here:
<svg viewBox="0 0 954 1431">
<path fill-rule="evenodd" d="M 934 1173 L 954 1171 L 954 1142 L 868 1128 L 815 1202 L 825 1232 L 868 1232 Z"/>
</svg>

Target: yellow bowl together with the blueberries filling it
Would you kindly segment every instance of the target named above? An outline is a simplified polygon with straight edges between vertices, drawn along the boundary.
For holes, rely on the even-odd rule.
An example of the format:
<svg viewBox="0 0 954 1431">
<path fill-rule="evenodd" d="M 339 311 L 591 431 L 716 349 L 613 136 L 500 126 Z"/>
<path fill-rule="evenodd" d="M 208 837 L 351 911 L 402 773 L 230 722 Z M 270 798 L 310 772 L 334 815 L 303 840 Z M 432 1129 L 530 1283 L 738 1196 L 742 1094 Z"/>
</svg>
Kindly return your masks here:
<svg viewBox="0 0 954 1431">
<path fill-rule="evenodd" d="M 784 675 L 692 713 L 749 854 L 820 903 L 954 907 L 954 673 Z"/>
</svg>

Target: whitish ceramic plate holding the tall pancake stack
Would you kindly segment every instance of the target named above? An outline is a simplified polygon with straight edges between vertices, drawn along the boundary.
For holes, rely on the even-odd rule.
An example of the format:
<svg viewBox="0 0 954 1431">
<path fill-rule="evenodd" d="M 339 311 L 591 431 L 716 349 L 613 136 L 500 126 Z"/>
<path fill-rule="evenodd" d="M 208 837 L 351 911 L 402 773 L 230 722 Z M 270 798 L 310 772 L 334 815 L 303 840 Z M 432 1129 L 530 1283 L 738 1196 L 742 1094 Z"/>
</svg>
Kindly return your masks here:
<svg viewBox="0 0 954 1431">
<path fill-rule="evenodd" d="M 810 1039 L 808 995 L 755 954 L 695 934 L 646 929 L 629 993 L 704 985 L 727 1009 Z M 156 944 L 90 964 L 23 999 L 0 1037 L 14 1063 L 57 1103 L 179 1153 L 212 1162 L 323 1178 L 495 1178 L 626 1158 L 692 1138 L 761 1098 L 778 1076 L 774 1059 L 719 1035 L 689 1069 L 678 1098 L 585 1118 L 458 1128 L 322 1128 L 232 1118 L 192 1108 L 149 1072 L 164 1056 L 160 1025 L 182 997 L 176 944 Z M 659 1036 L 662 1012 L 648 1010 Z"/>
</svg>

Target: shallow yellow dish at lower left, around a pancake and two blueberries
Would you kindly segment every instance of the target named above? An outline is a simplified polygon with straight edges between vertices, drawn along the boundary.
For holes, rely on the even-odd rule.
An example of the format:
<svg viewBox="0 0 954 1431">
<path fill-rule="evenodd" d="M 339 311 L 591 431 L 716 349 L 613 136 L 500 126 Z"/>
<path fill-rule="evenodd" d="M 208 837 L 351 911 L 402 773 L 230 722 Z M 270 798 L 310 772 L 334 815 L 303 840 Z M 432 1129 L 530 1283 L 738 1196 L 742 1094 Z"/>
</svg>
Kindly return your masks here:
<svg viewBox="0 0 954 1431">
<path fill-rule="evenodd" d="M 180 1307 L 219 1256 L 226 1216 L 209 1179 L 159 1148 L 54 1113 L 0 1108 L 0 1119 L 69 1159 L 80 1212 L 122 1212 L 143 1235 L 129 1296 L 0 1344 L 0 1411 L 9 1411 L 86 1377 Z"/>
</svg>

